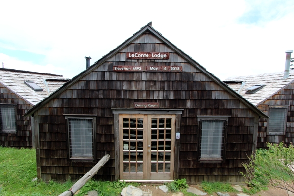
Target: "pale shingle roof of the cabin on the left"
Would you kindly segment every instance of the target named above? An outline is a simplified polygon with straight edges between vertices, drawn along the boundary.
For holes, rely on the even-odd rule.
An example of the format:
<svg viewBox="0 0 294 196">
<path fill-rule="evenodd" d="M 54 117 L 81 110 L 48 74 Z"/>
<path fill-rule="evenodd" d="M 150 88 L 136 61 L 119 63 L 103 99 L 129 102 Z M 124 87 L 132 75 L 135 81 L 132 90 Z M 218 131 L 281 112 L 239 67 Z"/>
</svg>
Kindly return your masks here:
<svg viewBox="0 0 294 196">
<path fill-rule="evenodd" d="M 32 81 L 43 90 L 35 91 L 25 81 Z M 67 81 L 62 75 L 0 68 L 0 83 L 33 106 Z"/>
</svg>

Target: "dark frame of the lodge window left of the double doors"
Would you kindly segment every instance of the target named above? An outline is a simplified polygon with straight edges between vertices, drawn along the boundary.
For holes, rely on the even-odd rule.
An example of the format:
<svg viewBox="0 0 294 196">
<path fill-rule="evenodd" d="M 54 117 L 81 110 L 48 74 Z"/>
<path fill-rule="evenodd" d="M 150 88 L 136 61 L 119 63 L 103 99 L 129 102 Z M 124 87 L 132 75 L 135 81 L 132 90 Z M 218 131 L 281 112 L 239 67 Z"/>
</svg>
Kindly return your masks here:
<svg viewBox="0 0 294 196">
<path fill-rule="evenodd" d="M 66 134 L 67 134 L 67 155 L 69 161 L 96 161 L 96 116 L 97 115 L 78 115 L 78 114 L 64 114 L 66 120 Z M 70 128 L 69 119 L 91 119 L 92 120 L 92 158 L 85 157 L 71 157 L 71 139 L 70 139 Z"/>
</svg>

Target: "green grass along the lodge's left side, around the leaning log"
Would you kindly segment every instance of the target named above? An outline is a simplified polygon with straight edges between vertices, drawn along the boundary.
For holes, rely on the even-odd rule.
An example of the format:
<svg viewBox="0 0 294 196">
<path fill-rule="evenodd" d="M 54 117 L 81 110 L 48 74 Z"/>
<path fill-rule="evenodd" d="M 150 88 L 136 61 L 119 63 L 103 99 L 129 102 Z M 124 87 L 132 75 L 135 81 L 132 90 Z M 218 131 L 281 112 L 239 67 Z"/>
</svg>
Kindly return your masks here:
<svg viewBox="0 0 294 196">
<path fill-rule="evenodd" d="M 32 181 L 37 177 L 36 151 L 0 146 L 0 196 L 58 196 L 71 188 L 72 181 Z M 124 187 L 138 183 L 88 181 L 79 196 L 97 190 L 99 196 L 119 196 Z"/>
</svg>

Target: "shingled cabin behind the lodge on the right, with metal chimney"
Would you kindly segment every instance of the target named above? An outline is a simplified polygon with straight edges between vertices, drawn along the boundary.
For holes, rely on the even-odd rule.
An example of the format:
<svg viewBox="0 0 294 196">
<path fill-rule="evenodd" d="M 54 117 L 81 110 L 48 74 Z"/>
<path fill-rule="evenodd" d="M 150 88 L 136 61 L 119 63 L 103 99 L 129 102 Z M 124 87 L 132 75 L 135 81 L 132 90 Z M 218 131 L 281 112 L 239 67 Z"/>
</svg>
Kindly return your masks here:
<svg viewBox="0 0 294 196">
<path fill-rule="evenodd" d="M 286 51 L 289 60 L 291 52 Z M 294 70 L 289 70 L 289 64 L 286 57 L 285 72 L 230 77 L 224 81 L 270 117 L 259 120 L 258 148 L 267 147 L 267 142 L 294 143 Z"/>
</svg>

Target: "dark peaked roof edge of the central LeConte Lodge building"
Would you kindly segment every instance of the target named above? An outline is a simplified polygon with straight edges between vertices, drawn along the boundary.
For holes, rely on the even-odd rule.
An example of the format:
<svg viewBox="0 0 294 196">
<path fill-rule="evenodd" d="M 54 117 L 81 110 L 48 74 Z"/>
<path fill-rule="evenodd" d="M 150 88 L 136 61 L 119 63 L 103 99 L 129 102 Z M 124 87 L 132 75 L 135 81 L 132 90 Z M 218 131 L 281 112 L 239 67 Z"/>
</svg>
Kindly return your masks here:
<svg viewBox="0 0 294 196">
<path fill-rule="evenodd" d="M 48 103 L 51 99 L 55 98 L 59 94 L 61 94 L 63 91 L 65 91 L 68 87 L 73 85 L 76 81 L 80 80 L 83 76 L 86 74 L 92 72 L 94 69 L 96 69 L 98 66 L 103 64 L 107 59 L 113 57 L 117 52 L 131 44 L 134 40 L 139 38 L 142 34 L 144 33 L 151 33 L 153 34 L 157 39 L 159 39 L 161 42 L 166 44 L 168 47 L 173 49 L 174 51 L 177 52 L 178 55 L 180 55 L 182 58 L 187 60 L 190 64 L 195 66 L 198 70 L 200 70 L 202 73 L 206 74 L 209 78 L 211 78 L 213 81 L 221 85 L 224 89 L 226 89 L 230 94 L 232 94 L 234 97 L 240 99 L 246 106 L 251 108 L 253 111 L 255 111 L 259 116 L 268 118 L 266 114 L 264 114 L 263 111 L 258 109 L 256 106 L 252 105 L 249 103 L 246 99 L 242 98 L 239 94 L 237 94 L 235 91 L 233 91 L 231 88 L 229 88 L 225 83 L 223 83 L 219 78 L 214 76 L 212 73 L 206 71 L 204 67 L 202 67 L 198 62 L 196 62 L 194 59 L 192 59 L 190 56 L 185 54 L 182 50 L 178 49 L 174 44 L 172 44 L 169 40 L 167 40 L 165 37 L 162 36 L 161 33 L 156 31 L 152 26 L 151 23 L 148 23 L 147 25 L 143 26 L 139 31 L 133 34 L 130 38 L 125 40 L 121 45 L 119 45 L 117 48 L 113 49 L 110 51 L 108 54 L 103 56 L 101 59 L 96 61 L 93 65 L 91 65 L 89 68 L 81 72 L 80 74 L 76 75 L 75 77 L 72 78 L 69 82 L 64 84 L 63 87 L 61 87 L 59 90 L 55 91 L 52 95 L 50 95 L 48 98 L 45 98 L 42 102 L 38 103 L 35 107 L 30 109 L 24 116 L 29 116 L 32 115 L 35 111 L 37 111 L 40 107 Z"/>
</svg>

